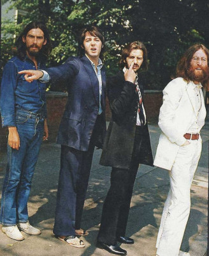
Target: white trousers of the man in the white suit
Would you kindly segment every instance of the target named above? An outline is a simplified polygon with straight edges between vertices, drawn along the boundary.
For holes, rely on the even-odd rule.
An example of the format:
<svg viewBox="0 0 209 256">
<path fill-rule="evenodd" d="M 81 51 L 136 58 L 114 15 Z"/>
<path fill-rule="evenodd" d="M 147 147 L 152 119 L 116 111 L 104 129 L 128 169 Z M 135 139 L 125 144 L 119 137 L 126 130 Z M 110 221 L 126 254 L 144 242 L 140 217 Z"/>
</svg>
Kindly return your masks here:
<svg viewBox="0 0 209 256">
<path fill-rule="evenodd" d="M 181 146 L 169 172 L 170 189 L 157 236 L 157 255 L 178 256 L 191 209 L 191 184 L 198 167 L 202 141 Z"/>
</svg>

